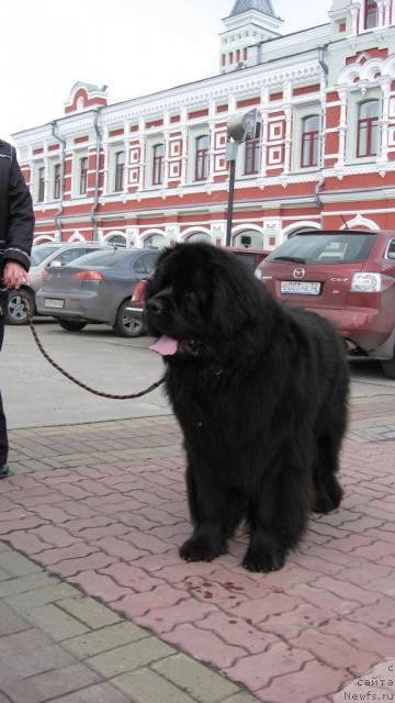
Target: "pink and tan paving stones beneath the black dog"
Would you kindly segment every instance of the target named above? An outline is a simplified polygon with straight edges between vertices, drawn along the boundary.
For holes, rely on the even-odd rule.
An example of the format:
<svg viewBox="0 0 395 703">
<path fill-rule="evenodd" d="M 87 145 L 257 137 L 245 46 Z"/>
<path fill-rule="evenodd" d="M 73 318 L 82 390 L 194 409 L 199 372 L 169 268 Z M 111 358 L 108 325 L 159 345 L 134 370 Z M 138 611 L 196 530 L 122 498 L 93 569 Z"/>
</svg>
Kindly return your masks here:
<svg viewBox="0 0 395 703">
<path fill-rule="evenodd" d="M 395 415 L 354 399 L 346 496 L 285 567 L 246 535 L 185 563 L 171 416 L 11 433 L 0 481 L 0 703 L 324 703 L 395 656 Z"/>
</svg>

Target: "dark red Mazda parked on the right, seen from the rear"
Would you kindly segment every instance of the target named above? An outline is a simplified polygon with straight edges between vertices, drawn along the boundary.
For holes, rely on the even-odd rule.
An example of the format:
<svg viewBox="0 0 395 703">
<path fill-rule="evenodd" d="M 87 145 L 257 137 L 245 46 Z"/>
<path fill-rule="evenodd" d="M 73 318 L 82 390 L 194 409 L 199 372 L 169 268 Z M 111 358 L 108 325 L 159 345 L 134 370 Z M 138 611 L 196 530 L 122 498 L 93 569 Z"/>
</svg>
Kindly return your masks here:
<svg viewBox="0 0 395 703">
<path fill-rule="evenodd" d="M 256 276 L 281 302 L 330 320 L 350 357 L 377 359 L 395 379 L 395 232 L 296 234 Z"/>
</svg>

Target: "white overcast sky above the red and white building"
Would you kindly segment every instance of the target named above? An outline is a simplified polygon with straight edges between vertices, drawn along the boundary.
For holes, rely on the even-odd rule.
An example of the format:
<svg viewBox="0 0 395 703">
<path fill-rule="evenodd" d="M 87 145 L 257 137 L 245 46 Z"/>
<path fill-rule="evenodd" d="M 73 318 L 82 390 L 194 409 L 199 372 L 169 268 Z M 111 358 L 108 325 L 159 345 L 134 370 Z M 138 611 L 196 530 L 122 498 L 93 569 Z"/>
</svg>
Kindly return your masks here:
<svg viewBox="0 0 395 703">
<path fill-rule="evenodd" d="M 218 72 L 234 0 L 2 0 L 0 136 L 59 118 L 79 80 L 127 100 Z M 283 33 L 328 21 L 331 0 L 273 0 Z"/>
</svg>

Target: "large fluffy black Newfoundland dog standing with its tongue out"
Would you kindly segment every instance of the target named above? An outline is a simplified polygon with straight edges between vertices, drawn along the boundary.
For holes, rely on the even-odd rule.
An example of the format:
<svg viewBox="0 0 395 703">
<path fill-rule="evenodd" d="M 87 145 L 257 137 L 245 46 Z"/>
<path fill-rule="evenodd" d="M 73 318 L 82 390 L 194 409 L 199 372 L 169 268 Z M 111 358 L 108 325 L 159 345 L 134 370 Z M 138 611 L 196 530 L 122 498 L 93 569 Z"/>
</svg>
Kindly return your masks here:
<svg viewBox="0 0 395 703">
<path fill-rule="evenodd" d="M 280 569 L 309 511 L 340 504 L 342 343 L 323 317 L 279 304 L 234 254 L 210 244 L 165 249 L 146 302 L 187 451 L 194 529 L 181 557 L 224 554 L 245 518 L 244 567 Z"/>
</svg>

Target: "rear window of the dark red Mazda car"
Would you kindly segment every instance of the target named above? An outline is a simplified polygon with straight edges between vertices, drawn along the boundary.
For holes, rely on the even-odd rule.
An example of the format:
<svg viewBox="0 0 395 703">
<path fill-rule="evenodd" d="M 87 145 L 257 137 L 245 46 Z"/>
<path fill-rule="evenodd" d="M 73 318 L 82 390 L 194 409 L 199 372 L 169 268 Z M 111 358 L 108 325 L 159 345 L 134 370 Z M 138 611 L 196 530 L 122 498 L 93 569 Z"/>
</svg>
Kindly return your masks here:
<svg viewBox="0 0 395 703">
<path fill-rule="evenodd" d="M 267 261 L 293 264 L 358 264 L 364 261 L 377 234 L 331 232 L 296 234 L 272 252 Z"/>
</svg>

